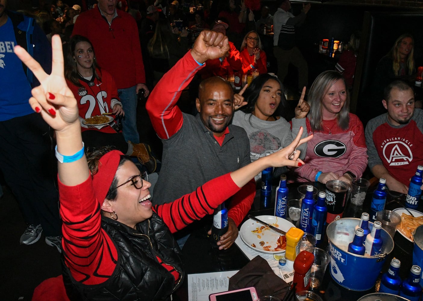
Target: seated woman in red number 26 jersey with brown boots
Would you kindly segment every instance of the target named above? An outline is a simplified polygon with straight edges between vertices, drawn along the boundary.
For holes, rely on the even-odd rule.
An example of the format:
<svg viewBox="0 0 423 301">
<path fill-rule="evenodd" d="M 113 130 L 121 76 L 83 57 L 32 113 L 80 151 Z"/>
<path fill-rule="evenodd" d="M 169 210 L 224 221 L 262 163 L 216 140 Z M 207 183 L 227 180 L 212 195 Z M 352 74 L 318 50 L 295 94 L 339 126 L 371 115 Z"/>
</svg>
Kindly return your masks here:
<svg viewBox="0 0 423 301">
<path fill-rule="evenodd" d="M 104 113 L 116 117 L 125 115 L 118 98 L 113 77 L 96 63 L 96 55 L 91 42 L 84 36 L 75 35 L 68 43 L 65 61 L 65 77 L 69 88 L 77 99 L 82 140 L 86 151 L 115 146 L 129 156 L 136 156 L 148 172 L 154 172 L 157 164 L 151 156 L 150 146 L 144 143 L 125 141 L 115 120 L 98 126 L 88 126 L 84 120 Z"/>
</svg>

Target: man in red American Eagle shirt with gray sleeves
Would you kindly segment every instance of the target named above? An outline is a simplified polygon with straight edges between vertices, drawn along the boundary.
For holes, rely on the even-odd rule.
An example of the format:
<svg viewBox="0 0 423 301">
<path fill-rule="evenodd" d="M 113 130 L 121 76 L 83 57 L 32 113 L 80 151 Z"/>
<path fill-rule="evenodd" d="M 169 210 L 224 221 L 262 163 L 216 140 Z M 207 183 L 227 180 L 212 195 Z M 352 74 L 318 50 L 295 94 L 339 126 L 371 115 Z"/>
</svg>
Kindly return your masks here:
<svg viewBox="0 0 423 301">
<path fill-rule="evenodd" d="M 415 109 L 412 88 L 400 80 L 385 88 L 382 104 L 388 112 L 365 129 L 368 165 L 390 190 L 407 193 L 410 178 L 423 165 L 423 111 Z"/>
</svg>

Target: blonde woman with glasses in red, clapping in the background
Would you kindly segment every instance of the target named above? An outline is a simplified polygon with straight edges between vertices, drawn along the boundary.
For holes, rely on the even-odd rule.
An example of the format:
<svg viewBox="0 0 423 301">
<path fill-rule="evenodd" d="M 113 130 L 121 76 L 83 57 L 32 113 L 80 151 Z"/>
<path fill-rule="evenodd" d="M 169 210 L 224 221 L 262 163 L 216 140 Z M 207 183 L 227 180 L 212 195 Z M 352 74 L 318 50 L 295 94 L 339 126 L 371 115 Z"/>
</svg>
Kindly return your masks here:
<svg viewBox="0 0 423 301">
<path fill-rule="evenodd" d="M 242 58 L 242 72 L 251 74 L 256 69 L 260 74 L 267 73 L 266 52 L 261 50 L 261 40 L 255 30 L 250 31 L 244 37 L 239 56 Z"/>
</svg>

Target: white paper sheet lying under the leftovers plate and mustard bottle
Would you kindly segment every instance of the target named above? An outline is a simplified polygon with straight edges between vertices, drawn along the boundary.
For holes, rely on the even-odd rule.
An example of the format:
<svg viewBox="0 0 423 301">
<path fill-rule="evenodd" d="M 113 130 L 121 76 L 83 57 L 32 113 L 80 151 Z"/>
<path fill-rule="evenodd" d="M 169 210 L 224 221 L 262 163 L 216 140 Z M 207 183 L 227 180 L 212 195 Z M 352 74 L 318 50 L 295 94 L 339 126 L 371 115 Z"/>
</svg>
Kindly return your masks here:
<svg viewBox="0 0 423 301">
<path fill-rule="evenodd" d="M 238 248 L 242 251 L 242 253 L 247 256 L 249 260 L 252 260 L 257 255 L 262 257 L 264 260 L 269 263 L 269 266 L 272 268 L 273 272 L 277 276 L 283 279 L 286 283 L 292 282 L 294 279 L 294 262 L 287 260 L 286 265 L 284 266 L 282 273 L 279 269 L 279 262 L 273 258 L 273 254 L 267 254 L 267 253 L 261 253 L 257 252 L 254 249 L 251 249 L 249 246 L 247 246 L 244 241 L 242 241 L 240 235 L 235 240 L 235 244 L 238 246 Z"/>
</svg>

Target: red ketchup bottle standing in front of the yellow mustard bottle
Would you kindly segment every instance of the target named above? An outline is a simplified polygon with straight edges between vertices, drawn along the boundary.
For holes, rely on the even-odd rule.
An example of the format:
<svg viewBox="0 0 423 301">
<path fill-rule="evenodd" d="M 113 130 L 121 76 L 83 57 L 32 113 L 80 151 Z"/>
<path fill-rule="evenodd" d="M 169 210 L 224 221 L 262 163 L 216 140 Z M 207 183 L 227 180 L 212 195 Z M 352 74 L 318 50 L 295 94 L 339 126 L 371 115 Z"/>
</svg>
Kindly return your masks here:
<svg viewBox="0 0 423 301">
<path fill-rule="evenodd" d="M 301 251 L 294 260 L 294 280 L 292 281 L 291 288 L 294 283 L 297 283 L 295 292 L 308 290 L 310 287 L 310 274 L 311 266 L 314 262 L 314 255 L 308 251 Z"/>
</svg>

